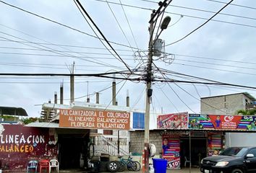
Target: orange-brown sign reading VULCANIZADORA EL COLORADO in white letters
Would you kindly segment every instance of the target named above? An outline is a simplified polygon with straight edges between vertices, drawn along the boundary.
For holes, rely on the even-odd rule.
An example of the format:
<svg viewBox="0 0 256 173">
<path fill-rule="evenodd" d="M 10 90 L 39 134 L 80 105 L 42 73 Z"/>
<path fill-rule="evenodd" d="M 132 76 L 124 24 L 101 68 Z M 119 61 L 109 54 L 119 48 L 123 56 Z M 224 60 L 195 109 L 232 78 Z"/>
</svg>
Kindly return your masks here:
<svg viewBox="0 0 256 173">
<path fill-rule="evenodd" d="M 59 127 L 129 130 L 129 112 L 60 110 Z"/>
</svg>

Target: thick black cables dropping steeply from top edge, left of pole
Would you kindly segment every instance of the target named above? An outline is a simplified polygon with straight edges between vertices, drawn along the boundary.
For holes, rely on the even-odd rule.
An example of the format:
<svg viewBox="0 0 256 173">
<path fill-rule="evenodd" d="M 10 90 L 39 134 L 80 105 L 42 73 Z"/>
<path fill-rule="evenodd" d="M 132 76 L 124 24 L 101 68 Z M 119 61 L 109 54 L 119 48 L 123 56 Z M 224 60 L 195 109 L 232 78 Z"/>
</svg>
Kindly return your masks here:
<svg viewBox="0 0 256 173">
<path fill-rule="evenodd" d="M 85 10 L 85 8 L 82 6 L 82 4 L 80 4 L 80 1 L 78 1 L 78 0 L 74 0 L 74 2 L 76 2 L 75 4 L 77 5 L 77 7 L 78 7 L 78 9 L 82 9 L 82 12 L 84 12 L 85 13 L 85 15 L 88 17 L 88 19 L 90 19 L 90 22 L 92 22 L 93 23 L 93 26 L 96 28 L 96 30 L 98 30 L 98 32 L 100 32 L 100 34 L 101 34 L 101 36 L 103 37 L 103 39 L 106 41 L 106 43 L 108 44 L 108 46 L 114 51 L 114 53 L 116 53 L 116 56 L 118 56 L 118 58 L 119 58 L 119 61 L 121 61 L 122 63 L 124 63 L 124 66 L 126 66 L 127 67 L 127 69 L 132 73 L 132 71 L 131 71 L 131 69 L 129 68 L 129 66 L 127 65 L 127 63 L 125 63 L 124 62 L 124 60 L 119 56 L 119 54 L 116 52 L 116 50 L 112 47 L 112 45 L 108 42 L 108 40 L 106 39 L 106 37 L 105 37 L 105 35 L 103 35 L 103 32 L 101 32 L 101 30 L 98 28 L 98 26 L 95 24 L 95 22 L 93 21 L 93 19 L 90 17 L 90 15 L 88 14 L 88 12 L 86 12 L 86 10 Z M 79 6 L 80 6 L 80 8 L 79 8 Z M 81 11 L 80 11 L 81 12 Z M 81 12 L 81 14 L 82 14 L 82 12 Z M 85 18 L 85 16 L 84 16 L 84 14 L 82 14 L 82 16 Z M 85 18 L 85 20 L 87 21 L 87 19 Z M 88 21 L 87 21 L 88 22 Z M 88 24 L 89 24 L 89 22 L 88 22 Z M 90 25 L 90 24 L 89 24 Z M 90 26 L 91 27 L 91 26 Z M 92 27 L 91 27 L 92 28 Z M 92 28 L 92 30 L 93 30 L 93 28 Z M 93 32 L 95 32 L 94 30 L 93 30 Z M 100 39 L 101 40 L 101 39 Z M 101 40 L 101 43 L 103 43 L 102 42 L 102 40 Z M 104 44 L 103 44 L 104 45 Z M 104 45 L 105 46 L 105 45 Z M 110 53 L 111 53 L 111 51 L 110 50 L 108 50 Z M 116 57 L 116 56 L 114 56 L 114 57 Z M 117 59 L 118 59 L 117 58 Z"/>
</svg>

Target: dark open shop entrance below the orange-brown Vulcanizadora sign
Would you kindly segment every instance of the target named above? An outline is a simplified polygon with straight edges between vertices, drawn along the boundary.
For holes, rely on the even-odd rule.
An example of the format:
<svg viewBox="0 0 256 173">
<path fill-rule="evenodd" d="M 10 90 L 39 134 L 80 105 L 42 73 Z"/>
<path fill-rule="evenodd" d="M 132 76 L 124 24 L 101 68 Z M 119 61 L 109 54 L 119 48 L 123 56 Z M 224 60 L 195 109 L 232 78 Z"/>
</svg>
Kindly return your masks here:
<svg viewBox="0 0 256 173">
<path fill-rule="evenodd" d="M 88 136 L 59 135 L 60 169 L 80 169 L 87 158 Z"/>
</svg>

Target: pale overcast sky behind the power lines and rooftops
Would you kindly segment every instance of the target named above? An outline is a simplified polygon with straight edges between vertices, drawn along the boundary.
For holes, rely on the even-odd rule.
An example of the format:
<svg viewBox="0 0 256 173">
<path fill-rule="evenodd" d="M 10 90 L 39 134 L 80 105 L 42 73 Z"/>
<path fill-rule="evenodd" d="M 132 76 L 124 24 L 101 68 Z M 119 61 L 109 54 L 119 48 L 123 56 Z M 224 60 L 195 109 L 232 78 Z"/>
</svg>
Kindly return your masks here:
<svg viewBox="0 0 256 173">
<path fill-rule="evenodd" d="M 81 32 L 95 35 L 74 1 L 4 2 Z M 121 58 L 130 68 L 140 66 L 140 69 L 143 69 L 146 62 L 143 63 L 140 58 L 134 56 L 136 50 L 129 48 L 129 45 L 145 50 L 140 53 L 142 56 L 147 55 L 148 21 L 151 13 L 149 9 L 158 9 L 156 2 L 158 1 L 108 0 L 107 4 L 105 0 L 81 0 L 85 10 L 109 41 L 127 45 L 125 47 L 111 43 Z M 223 0 L 223 2 L 229 1 Z M 256 86 L 256 1 L 235 0 L 232 3 L 236 5 L 229 5 L 223 9 L 222 14 L 213 18 L 215 21 L 208 22 L 179 43 L 166 46 L 166 53 L 175 56 L 167 56 L 165 62 L 163 58 L 154 57 L 155 65 L 158 68 L 205 79 Z M 170 27 L 161 33 L 160 38 L 165 40 L 166 45 L 179 40 L 202 25 L 205 19 L 212 17 L 214 12 L 218 12 L 224 5 L 209 0 L 173 0 L 163 15 L 163 17 L 166 15 L 171 17 Z M 8 6 L 3 1 L 0 3 L 0 73 L 69 74 L 73 61 L 75 74 L 127 70 L 124 63 L 114 58 L 97 38 L 22 12 L 20 9 Z M 39 116 L 40 105 L 48 102 L 48 99 L 53 102 L 54 92 L 58 92 L 59 97 L 61 81 L 64 81 L 64 103 L 69 104 L 67 77 L 0 76 L 0 78 L 1 106 L 23 107 L 29 116 Z M 168 75 L 168 78 L 185 80 L 171 75 Z M 78 98 L 76 101 L 85 102 L 88 93 L 94 94 L 106 89 L 111 86 L 111 82 L 112 79 L 77 77 L 74 97 Z M 117 91 L 120 89 L 116 96 L 119 105 L 126 104 L 127 90 L 129 90 L 131 107 L 144 110 L 145 83 L 124 82 L 116 80 Z M 151 108 L 154 112 L 161 112 L 162 109 L 163 113 L 184 111 L 199 113 L 200 97 L 236 92 L 249 92 L 256 97 L 256 91 L 249 89 L 156 82 L 153 84 Z M 95 95 L 90 96 L 90 101 L 95 102 Z M 111 89 L 106 89 L 101 92 L 100 103 L 108 105 L 110 102 Z"/>
</svg>

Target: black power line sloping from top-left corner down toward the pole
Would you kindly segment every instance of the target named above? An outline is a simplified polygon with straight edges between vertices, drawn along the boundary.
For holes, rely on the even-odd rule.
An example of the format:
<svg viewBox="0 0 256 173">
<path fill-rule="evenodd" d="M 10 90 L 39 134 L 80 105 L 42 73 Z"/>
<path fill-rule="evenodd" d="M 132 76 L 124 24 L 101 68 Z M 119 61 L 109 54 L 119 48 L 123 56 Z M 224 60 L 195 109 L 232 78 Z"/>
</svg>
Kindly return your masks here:
<svg viewBox="0 0 256 173">
<path fill-rule="evenodd" d="M 67 28 L 69 28 L 69 29 L 71 29 L 71 30 L 80 32 L 80 33 L 82 33 L 82 34 L 84 34 L 84 35 L 88 35 L 88 36 L 90 36 L 90 37 L 95 37 L 94 35 L 90 35 L 90 34 L 88 34 L 88 33 L 86 33 L 86 32 L 82 32 L 81 30 L 77 30 L 77 29 L 75 29 L 74 27 L 69 27 L 68 25 L 64 25 L 64 24 L 62 24 L 62 23 L 60 23 L 60 22 L 56 22 L 56 21 L 54 21 L 54 20 L 52 20 L 52 19 L 48 19 L 48 18 L 46 18 L 46 17 L 40 16 L 39 14 L 35 14 L 35 13 L 33 13 L 33 12 L 29 12 L 29 11 L 27 11 L 27 10 L 25 10 L 25 9 L 22 9 L 22 8 L 18 7 L 18 6 L 14 6 L 14 5 L 12 5 L 12 4 L 8 4 L 7 2 L 1 1 L 1 0 L 0 0 L 0 2 L 1 2 L 2 4 L 6 4 L 7 6 L 11 6 L 11 7 L 15 8 L 15 9 L 19 9 L 19 10 L 21 10 L 22 12 L 26 12 L 26 13 L 28 13 L 28 14 L 32 14 L 32 15 L 34 15 L 34 16 L 36 16 L 36 17 L 40 17 L 41 19 L 45 19 L 45 20 L 47 20 L 47 21 L 49 21 L 49 22 L 54 22 L 55 24 L 61 25 L 62 27 L 67 27 Z M 98 39 L 98 37 L 95 37 L 95 38 Z M 121 43 L 116 43 L 116 42 L 112 42 L 112 41 L 109 41 L 109 43 L 113 43 L 113 44 L 115 44 L 115 45 L 121 45 L 121 46 L 130 48 L 128 45 L 123 45 L 123 44 L 121 44 Z M 135 48 L 135 49 L 136 49 L 136 48 Z"/>
</svg>

